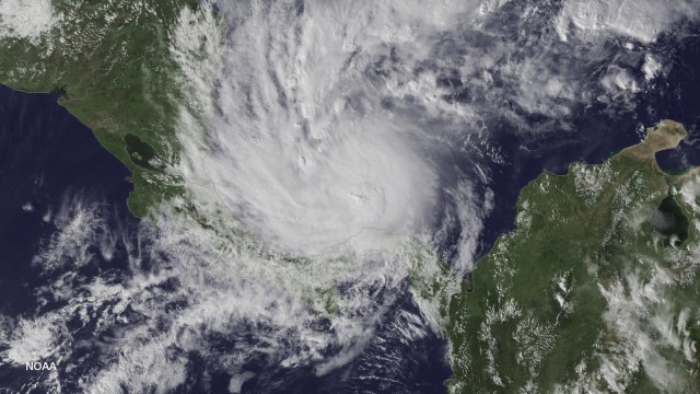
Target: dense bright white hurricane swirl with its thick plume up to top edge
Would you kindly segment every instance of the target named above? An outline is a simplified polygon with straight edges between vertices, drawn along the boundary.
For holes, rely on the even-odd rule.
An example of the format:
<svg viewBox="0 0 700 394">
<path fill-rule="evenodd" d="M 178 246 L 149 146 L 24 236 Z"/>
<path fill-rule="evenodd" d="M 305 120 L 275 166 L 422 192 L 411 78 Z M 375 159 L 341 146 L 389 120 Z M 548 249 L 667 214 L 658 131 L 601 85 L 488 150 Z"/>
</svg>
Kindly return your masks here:
<svg viewBox="0 0 700 394">
<path fill-rule="evenodd" d="M 477 4 L 220 5 L 232 22 L 212 124 L 202 140 L 183 134 L 196 198 L 293 253 L 365 229 L 429 239 L 435 159 L 451 153 L 451 134 L 466 119 L 439 100 L 446 92 L 435 71 L 415 73 L 441 32 Z M 453 181 L 455 192 L 470 182 Z"/>
</svg>

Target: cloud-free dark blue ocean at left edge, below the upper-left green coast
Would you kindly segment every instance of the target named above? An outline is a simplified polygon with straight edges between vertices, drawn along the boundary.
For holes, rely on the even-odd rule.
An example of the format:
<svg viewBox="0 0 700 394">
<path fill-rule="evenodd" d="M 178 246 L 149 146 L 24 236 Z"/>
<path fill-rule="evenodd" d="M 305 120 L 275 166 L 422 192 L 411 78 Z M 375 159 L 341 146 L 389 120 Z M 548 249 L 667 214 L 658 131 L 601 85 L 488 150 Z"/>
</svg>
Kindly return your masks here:
<svg viewBox="0 0 700 394">
<path fill-rule="evenodd" d="M 108 201 L 129 220 L 127 167 L 57 100 L 0 85 L 0 311 L 9 315 L 33 305 L 32 257 L 55 230 L 43 216 L 67 193 Z"/>
</svg>

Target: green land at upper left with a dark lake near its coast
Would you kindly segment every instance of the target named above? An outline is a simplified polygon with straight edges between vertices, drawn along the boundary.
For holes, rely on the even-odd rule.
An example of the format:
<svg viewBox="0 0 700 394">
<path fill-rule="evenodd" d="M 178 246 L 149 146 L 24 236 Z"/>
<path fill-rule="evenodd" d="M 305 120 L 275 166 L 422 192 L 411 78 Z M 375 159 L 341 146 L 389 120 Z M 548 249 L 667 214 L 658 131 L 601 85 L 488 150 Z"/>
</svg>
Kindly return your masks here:
<svg viewBox="0 0 700 394">
<path fill-rule="evenodd" d="M 150 205 L 182 193 L 182 179 L 163 171 L 179 152 L 171 104 L 179 94 L 177 65 L 168 51 L 179 10 L 197 1 L 51 4 L 46 32 L 0 35 L 0 83 L 59 92 L 59 103 L 129 167 L 129 207 L 144 216 Z"/>
</svg>

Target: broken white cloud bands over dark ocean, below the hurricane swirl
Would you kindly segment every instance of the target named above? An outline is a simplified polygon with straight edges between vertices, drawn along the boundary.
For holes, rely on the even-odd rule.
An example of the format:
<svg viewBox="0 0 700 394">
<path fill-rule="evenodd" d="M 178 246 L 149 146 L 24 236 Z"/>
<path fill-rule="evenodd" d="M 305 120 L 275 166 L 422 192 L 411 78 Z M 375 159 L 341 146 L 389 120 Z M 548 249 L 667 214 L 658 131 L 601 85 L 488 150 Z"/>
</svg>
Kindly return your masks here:
<svg viewBox="0 0 700 394">
<path fill-rule="evenodd" d="M 165 393 L 185 382 L 190 351 L 225 366 L 236 386 L 250 378 L 252 360 L 325 374 L 362 352 L 381 324 L 394 325 L 389 334 L 399 338 L 436 328 L 434 301 L 418 294 L 420 312 L 387 322 L 409 275 L 438 277 L 434 255 L 421 245 L 399 240 L 390 254 L 357 259 L 335 251 L 290 264 L 256 251 L 213 250 L 222 241 L 214 232 L 183 230 L 186 223 L 154 230 L 114 219 L 104 204 L 65 199 L 35 260 L 44 278 L 34 290 L 38 304 L 55 306 L 35 317 L 0 314 L 0 364 L 50 359 L 80 370 L 85 392 Z M 100 274 L 85 276 L 88 266 Z M 455 283 L 444 282 L 444 291 Z M 217 345 L 222 340 L 226 351 Z M 86 348 L 101 362 L 83 362 Z M 42 384 L 60 386 L 56 374 Z"/>
</svg>

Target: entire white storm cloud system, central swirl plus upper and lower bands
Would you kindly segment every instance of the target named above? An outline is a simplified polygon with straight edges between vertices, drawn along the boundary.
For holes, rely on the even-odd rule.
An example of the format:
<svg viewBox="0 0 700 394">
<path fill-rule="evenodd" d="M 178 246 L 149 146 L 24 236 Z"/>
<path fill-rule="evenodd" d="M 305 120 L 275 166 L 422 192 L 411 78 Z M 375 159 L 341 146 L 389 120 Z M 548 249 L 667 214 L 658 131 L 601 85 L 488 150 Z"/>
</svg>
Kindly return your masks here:
<svg viewBox="0 0 700 394">
<path fill-rule="evenodd" d="M 15 3 L 0 0 L 3 18 Z M 628 104 L 664 59 L 629 44 L 632 60 L 616 63 L 600 43 L 648 43 L 695 12 L 691 2 L 634 4 L 184 8 L 170 32 L 183 148 L 171 171 L 186 196 L 172 202 L 194 213 L 165 207 L 158 230 L 130 229 L 80 197 L 51 207 L 36 297 L 59 306 L 0 315 L 0 362 L 67 355 L 78 371 L 89 348 L 100 364 L 70 372 L 78 389 L 165 392 L 199 351 L 237 391 L 250 359 L 324 374 L 381 326 L 405 343 L 439 331 L 439 308 L 458 291 L 456 273 L 474 263 L 494 209 L 493 167 L 512 164 L 490 139 L 495 126 L 541 137 L 570 131 L 576 106 Z M 119 260 L 128 266 L 109 268 Z M 95 266 L 95 277 L 81 274 Z M 387 323 L 406 299 L 418 312 Z M 229 340 L 225 352 L 217 340 Z"/>
</svg>

